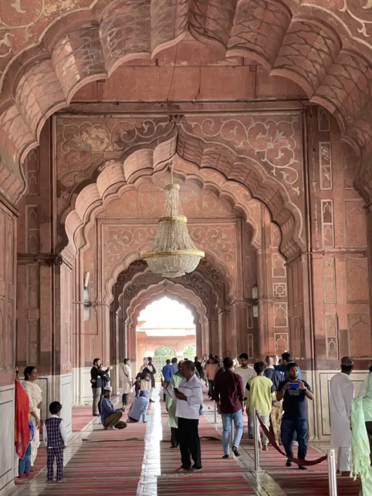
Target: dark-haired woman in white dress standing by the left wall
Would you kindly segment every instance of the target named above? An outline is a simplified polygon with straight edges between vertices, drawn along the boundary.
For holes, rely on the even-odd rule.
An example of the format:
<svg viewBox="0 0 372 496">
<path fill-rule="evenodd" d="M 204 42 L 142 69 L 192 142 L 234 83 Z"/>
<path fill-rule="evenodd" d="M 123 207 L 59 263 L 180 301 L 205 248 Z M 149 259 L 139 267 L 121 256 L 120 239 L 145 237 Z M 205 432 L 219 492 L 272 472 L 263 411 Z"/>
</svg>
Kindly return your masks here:
<svg viewBox="0 0 372 496">
<path fill-rule="evenodd" d="M 34 438 L 31 441 L 31 471 L 33 471 L 38 447 L 40 446 L 40 410 L 43 401 L 41 387 L 35 382 L 37 378 L 38 371 L 36 367 L 29 366 L 25 368 L 22 386 L 30 401 L 29 412 L 31 414 L 32 423 L 34 424 Z"/>
</svg>

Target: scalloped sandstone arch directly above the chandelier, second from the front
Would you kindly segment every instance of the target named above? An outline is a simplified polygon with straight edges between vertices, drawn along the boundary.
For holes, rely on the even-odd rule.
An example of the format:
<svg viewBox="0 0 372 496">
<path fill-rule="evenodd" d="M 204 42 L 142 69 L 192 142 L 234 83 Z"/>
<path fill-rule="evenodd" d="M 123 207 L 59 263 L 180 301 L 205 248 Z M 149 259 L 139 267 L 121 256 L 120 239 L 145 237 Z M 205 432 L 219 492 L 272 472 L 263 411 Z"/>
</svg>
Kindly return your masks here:
<svg viewBox="0 0 372 496">
<path fill-rule="evenodd" d="M 117 194 L 121 186 L 135 184 L 141 174 L 148 174 L 151 170 L 155 173 L 162 171 L 164 162 L 171 157 L 174 158 L 176 173 L 186 179 L 195 178 L 202 184 L 207 183 L 219 194 L 223 192 L 234 202 L 234 205 L 238 205 L 245 215 L 248 215 L 248 218 L 251 217 L 248 214 L 249 205 L 242 195 L 248 193 L 264 203 L 270 211 L 272 220 L 281 229 L 281 250 L 287 258 L 295 256 L 299 250 L 305 248 L 303 216 L 299 207 L 291 201 L 289 192 L 280 180 L 269 177 L 261 164 L 253 162 L 251 158 L 238 156 L 231 148 L 221 145 L 219 156 L 222 157 L 222 153 L 225 153 L 225 157 L 219 162 L 220 170 L 216 170 L 212 167 L 215 157 L 210 154 L 211 149 L 206 141 L 197 137 L 191 138 L 185 132 L 179 138 L 179 143 L 181 150 L 177 149 L 177 140 L 173 136 L 154 146 L 152 153 L 150 153 L 151 149 L 147 148 L 136 151 L 127 157 L 123 164 L 115 162 L 103 168 L 96 183 L 81 190 L 76 198 L 74 210 L 66 216 L 65 229 L 69 244 L 64 249 L 64 255 L 68 258 L 75 256 L 76 245 L 79 245 L 78 231 L 85 223 L 91 221 L 95 208 L 104 208 L 102 205 L 106 197 L 109 201 L 110 194 L 113 192 Z M 182 152 L 185 157 L 181 155 Z M 180 155 L 187 161 L 182 167 L 178 167 L 177 164 Z M 244 190 L 239 191 L 238 186 L 244 187 Z M 253 228 L 257 227 L 254 221 L 252 224 Z M 255 243 L 258 247 L 257 241 Z M 118 274 L 119 272 L 116 276 Z"/>
</svg>

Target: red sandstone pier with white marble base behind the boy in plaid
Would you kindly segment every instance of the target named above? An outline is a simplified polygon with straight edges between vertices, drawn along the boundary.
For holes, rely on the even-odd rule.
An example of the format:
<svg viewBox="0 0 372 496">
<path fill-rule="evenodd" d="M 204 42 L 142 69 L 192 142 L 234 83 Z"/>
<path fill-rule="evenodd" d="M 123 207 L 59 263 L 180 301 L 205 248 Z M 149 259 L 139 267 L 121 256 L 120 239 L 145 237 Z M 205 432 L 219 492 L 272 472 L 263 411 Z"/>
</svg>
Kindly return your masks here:
<svg viewBox="0 0 372 496">
<path fill-rule="evenodd" d="M 25 164 L 27 195 L 19 204 L 17 249 L 17 350 L 20 368 L 35 365 L 43 390 L 42 417 L 53 400 L 63 404 L 67 434 L 72 403 L 72 269 L 73 260 L 57 252 L 56 176 L 50 156 L 47 123 L 41 146 Z"/>
</svg>

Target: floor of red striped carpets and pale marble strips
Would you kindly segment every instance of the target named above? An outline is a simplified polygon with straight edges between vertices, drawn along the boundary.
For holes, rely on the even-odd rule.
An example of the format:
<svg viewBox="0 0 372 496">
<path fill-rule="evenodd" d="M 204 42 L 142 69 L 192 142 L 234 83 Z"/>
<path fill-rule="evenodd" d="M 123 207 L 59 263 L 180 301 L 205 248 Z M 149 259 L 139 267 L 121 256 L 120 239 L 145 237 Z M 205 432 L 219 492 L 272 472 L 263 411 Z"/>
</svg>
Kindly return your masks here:
<svg viewBox="0 0 372 496">
<path fill-rule="evenodd" d="M 84 408 L 84 407 L 82 407 Z M 254 472 L 252 442 L 244 439 L 240 458 L 222 459 L 221 422 L 214 424 L 213 403 L 205 402 L 201 417 L 203 470 L 180 473 L 179 450 L 170 449 L 170 429 L 164 403 L 156 401 L 147 424 L 129 424 L 123 431 L 103 431 L 98 419 L 89 421 L 85 411 L 76 413 L 76 430 L 65 450 L 65 481 L 46 483 L 45 470 L 12 490 L 11 496 L 303 496 L 328 495 L 327 464 L 305 473 L 284 467 L 285 458 L 273 448 L 260 454 Z M 84 417 L 84 415 L 86 417 Z M 82 426 L 84 418 L 89 423 Z M 321 446 L 310 447 L 309 459 L 319 457 Z M 42 455 L 41 455 L 42 456 Z M 44 454 L 45 459 L 45 454 Z M 42 463 L 42 462 L 41 462 Z M 357 496 L 359 483 L 338 478 L 338 496 Z"/>
</svg>

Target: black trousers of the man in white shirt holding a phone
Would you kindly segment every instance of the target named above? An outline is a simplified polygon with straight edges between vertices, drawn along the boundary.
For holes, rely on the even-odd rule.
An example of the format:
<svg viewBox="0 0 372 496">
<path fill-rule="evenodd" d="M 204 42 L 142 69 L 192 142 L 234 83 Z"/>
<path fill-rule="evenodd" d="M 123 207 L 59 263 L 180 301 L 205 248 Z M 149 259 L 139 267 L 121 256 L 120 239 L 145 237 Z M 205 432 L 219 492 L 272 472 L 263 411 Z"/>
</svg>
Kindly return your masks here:
<svg viewBox="0 0 372 496">
<path fill-rule="evenodd" d="M 198 425 L 199 419 L 178 418 L 178 440 L 180 443 L 181 462 L 184 468 L 191 467 L 190 455 L 195 468 L 201 468 Z"/>
</svg>

